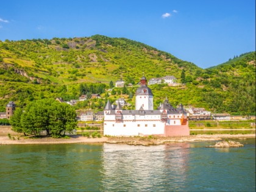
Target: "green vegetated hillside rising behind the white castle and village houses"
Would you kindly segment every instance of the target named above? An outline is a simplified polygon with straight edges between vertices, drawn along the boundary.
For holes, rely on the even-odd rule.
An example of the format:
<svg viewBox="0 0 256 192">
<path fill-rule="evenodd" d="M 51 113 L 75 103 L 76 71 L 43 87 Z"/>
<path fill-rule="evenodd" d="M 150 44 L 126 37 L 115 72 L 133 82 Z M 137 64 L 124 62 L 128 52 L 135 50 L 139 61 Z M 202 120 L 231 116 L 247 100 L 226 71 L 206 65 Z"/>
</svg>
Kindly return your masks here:
<svg viewBox="0 0 256 192">
<path fill-rule="evenodd" d="M 104 94 L 110 80 L 137 84 L 143 73 L 147 79 L 169 75 L 186 83 L 185 88 L 153 85 L 155 105 L 167 95 L 173 105 L 255 114 L 255 52 L 201 69 L 146 44 L 102 35 L 0 41 L 0 111 L 9 101 L 22 107 L 40 98 L 77 99 L 82 85 L 101 87 L 90 92 Z"/>
</svg>

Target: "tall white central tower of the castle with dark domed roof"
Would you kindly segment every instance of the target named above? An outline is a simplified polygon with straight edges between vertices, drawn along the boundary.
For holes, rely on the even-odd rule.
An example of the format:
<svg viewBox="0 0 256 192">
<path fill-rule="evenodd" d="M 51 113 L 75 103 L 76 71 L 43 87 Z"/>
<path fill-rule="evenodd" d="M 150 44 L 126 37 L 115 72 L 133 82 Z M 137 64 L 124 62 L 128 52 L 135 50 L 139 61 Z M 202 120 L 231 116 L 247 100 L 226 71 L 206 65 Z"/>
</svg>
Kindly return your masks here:
<svg viewBox="0 0 256 192">
<path fill-rule="evenodd" d="M 135 96 L 135 110 L 140 110 L 141 107 L 144 110 L 154 110 L 153 93 L 147 86 L 146 77 L 141 77 L 140 87 L 136 90 Z"/>
</svg>

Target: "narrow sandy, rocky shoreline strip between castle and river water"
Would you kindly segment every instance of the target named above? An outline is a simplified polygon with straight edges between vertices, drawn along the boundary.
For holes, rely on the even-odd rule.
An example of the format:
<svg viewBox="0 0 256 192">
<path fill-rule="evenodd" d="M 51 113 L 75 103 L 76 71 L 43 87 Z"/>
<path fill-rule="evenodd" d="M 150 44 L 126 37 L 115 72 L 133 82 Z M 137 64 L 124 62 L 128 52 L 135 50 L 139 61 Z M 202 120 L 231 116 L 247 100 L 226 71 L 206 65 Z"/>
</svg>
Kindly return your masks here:
<svg viewBox="0 0 256 192">
<path fill-rule="evenodd" d="M 0 144 L 63 144 L 63 143 L 124 143 L 130 145 L 158 145 L 172 142 L 196 142 L 196 141 L 217 141 L 223 138 L 246 139 L 255 138 L 255 134 L 218 134 L 218 135 L 190 135 L 184 137 L 101 137 L 87 138 L 80 135 L 72 135 L 70 138 L 27 138 L 0 137 Z"/>
</svg>

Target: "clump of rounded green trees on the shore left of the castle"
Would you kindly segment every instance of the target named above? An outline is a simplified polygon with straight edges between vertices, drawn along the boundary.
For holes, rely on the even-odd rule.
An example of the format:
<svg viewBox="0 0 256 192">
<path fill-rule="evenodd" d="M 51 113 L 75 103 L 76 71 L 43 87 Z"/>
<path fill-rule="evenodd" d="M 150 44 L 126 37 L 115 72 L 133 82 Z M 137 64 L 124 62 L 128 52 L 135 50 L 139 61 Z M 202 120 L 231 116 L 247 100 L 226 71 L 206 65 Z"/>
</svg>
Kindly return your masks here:
<svg viewBox="0 0 256 192">
<path fill-rule="evenodd" d="M 65 132 L 76 129 L 76 112 L 73 107 L 54 99 L 41 99 L 30 102 L 24 111 L 15 110 L 10 119 L 10 124 L 15 132 L 40 135 L 46 130 L 52 137 L 62 137 Z"/>
</svg>

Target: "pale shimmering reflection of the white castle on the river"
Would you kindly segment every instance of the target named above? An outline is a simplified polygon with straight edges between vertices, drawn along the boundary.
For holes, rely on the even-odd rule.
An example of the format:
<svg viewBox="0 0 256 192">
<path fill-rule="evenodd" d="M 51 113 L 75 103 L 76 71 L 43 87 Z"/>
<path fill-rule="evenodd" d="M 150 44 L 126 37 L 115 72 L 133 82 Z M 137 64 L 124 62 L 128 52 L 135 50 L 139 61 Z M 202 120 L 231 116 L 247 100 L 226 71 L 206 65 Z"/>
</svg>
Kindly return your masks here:
<svg viewBox="0 0 256 192">
<path fill-rule="evenodd" d="M 180 190 L 186 179 L 188 148 L 189 143 L 149 147 L 104 144 L 104 190 Z"/>
</svg>

